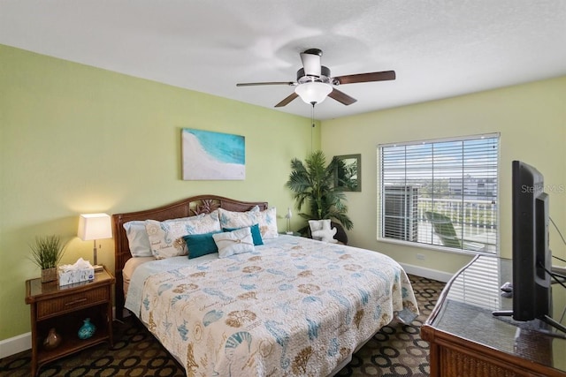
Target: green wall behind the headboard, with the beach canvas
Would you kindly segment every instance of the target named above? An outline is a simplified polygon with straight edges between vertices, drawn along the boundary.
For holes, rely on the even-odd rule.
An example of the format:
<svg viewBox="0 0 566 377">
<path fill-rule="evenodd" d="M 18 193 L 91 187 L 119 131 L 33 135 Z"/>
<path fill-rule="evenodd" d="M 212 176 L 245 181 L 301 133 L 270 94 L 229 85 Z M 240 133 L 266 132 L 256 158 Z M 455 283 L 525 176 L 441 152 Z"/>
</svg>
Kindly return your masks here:
<svg viewBox="0 0 566 377">
<path fill-rule="evenodd" d="M 0 45 L 0 340 L 30 329 L 24 283 L 36 235 L 69 241 L 63 263 L 90 259 L 76 237 L 81 213 L 128 212 L 214 193 L 268 200 L 279 216 L 293 157 L 319 147 L 319 130 L 295 117 Z M 246 138 L 246 179 L 183 181 L 180 130 Z M 294 221 L 299 221 L 295 216 Z M 286 222 L 279 219 L 279 228 Z M 113 269 L 113 243 L 99 262 Z"/>
</svg>

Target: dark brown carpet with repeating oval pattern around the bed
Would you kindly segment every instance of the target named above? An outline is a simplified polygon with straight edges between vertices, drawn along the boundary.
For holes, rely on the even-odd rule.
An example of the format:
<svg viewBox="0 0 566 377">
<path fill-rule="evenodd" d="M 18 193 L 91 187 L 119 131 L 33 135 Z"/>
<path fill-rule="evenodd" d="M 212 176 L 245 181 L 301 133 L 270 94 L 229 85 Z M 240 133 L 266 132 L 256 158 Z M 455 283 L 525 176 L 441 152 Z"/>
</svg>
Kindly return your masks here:
<svg viewBox="0 0 566 377">
<path fill-rule="evenodd" d="M 337 375 L 400 376 L 429 375 L 428 343 L 420 327 L 432 312 L 444 283 L 409 275 L 420 315 L 410 325 L 391 322 L 371 338 Z M 114 322 L 114 349 L 94 346 L 42 366 L 40 377 L 65 376 L 184 376 L 184 369 L 160 343 L 135 320 Z M 0 360 L 0 375 L 29 376 L 31 351 Z"/>
</svg>

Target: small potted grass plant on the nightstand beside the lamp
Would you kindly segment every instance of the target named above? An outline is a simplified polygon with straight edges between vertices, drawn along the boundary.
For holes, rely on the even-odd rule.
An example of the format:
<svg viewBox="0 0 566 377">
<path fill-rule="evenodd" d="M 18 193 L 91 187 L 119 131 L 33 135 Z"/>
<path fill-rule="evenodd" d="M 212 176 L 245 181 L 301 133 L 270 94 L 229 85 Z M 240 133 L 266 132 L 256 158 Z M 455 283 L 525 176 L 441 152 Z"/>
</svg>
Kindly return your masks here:
<svg viewBox="0 0 566 377">
<path fill-rule="evenodd" d="M 42 268 L 42 283 L 57 280 L 57 263 L 65 253 L 65 245 L 58 236 L 36 237 L 32 249 L 31 260 Z"/>
</svg>

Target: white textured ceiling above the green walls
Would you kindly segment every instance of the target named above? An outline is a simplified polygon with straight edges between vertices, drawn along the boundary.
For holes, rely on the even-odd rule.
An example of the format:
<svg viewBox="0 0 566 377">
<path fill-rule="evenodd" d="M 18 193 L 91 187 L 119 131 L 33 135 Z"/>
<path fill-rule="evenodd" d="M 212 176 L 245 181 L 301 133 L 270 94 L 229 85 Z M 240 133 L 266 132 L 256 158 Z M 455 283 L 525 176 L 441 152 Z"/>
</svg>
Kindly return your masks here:
<svg viewBox="0 0 566 377">
<path fill-rule="evenodd" d="M 266 108 L 304 49 L 358 101 L 327 119 L 566 75 L 565 0 L 0 0 L 0 43 Z M 1 57 L 0 57 L 1 58 Z M 310 117 L 295 99 L 280 111 Z"/>
</svg>

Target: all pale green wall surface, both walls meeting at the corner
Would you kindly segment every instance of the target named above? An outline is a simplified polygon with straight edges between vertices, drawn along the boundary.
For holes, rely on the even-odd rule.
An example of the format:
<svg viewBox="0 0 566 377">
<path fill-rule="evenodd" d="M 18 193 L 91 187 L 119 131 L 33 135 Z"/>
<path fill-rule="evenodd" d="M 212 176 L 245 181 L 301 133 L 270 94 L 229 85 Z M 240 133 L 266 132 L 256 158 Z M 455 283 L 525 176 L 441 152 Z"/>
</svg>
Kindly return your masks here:
<svg viewBox="0 0 566 377">
<path fill-rule="evenodd" d="M 40 271 L 27 259 L 36 235 L 69 241 L 64 263 L 92 255 L 76 238 L 81 213 L 109 214 L 215 193 L 268 200 L 283 215 L 293 157 L 362 154 L 362 192 L 348 192 L 352 245 L 405 265 L 455 272 L 470 257 L 379 242 L 377 146 L 394 141 L 501 132 L 501 255 L 510 256 L 510 162 L 521 159 L 566 186 L 566 78 L 322 122 L 136 79 L 0 45 L 0 340 L 29 331 L 24 282 Z M 180 129 L 246 137 L 244 181 L 183 181 Z M 322 129 L 322 131 L 320 131 Z M 311 140 L 312 143 L 311 143 Z M 551 193 L 566 229 L 566 192 Z M 294 226 L 299 221 L 293 217 Z M 279 229 L 285 229 L 279 218 Z M 550 232 L 553 252 L 566 247 Z M 99 260 L 113 268 L 112 240 Z M 417 260 L 423 253 L 425 260 Z"/>
</svg>

